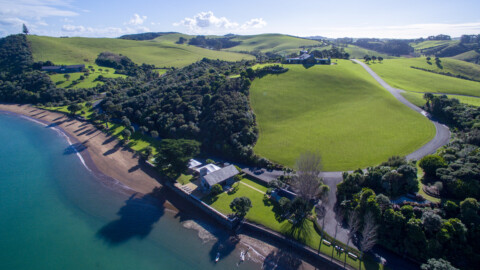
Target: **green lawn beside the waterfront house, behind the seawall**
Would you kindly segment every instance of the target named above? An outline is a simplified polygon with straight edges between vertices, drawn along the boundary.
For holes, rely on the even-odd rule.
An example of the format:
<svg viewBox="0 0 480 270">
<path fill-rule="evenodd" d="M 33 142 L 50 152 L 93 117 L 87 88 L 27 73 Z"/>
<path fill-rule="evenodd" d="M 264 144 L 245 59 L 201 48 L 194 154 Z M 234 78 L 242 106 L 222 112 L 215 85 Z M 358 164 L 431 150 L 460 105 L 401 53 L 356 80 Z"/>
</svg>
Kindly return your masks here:
<svg viewBox="0 0 480 270">
<path fill-rule="evenodd" d="M 247 179 L 242 179 L 242 182 L 245 182 L 249 185 L 252 185 L 252 181 Z M 253 182 L 255 183 L 255 182 Z M 255 183 L 256 185 L 260 185 L 259 183 Z M 266 190 L 266 187 L 263 185 L 262 189 Z M 256 186 L 257 187 L 257 186 Z M 257 187 L 258 188 L 258 187 Z M 259 188 L 260 189 L 260 188 Z M 238 190 L 233 194 L 228 194 L 226 192 L 218 195 L 218 196 L 210 196 L 207 195 L 202 200 L 212 206 L 213 208 L 217 209 L 218 211 L 222 212 L 223 214 L 231 214 L 232 211 L 230 209 L 230 202 L 236 197 L 248 197 L 252 201 L 252 208 L 248 212 L 246 218 L 254 223 L 263 225 L 268 227 L 274 231 L 280 232 L 284 235 L 290 236 L 298 241 L 314 248 L 319 248 L 319 243 L 321 240 L 320 234 L 314 227 L 314 224 L 310 220 L 305 220 L 302 224 L 298 226 L 293 226 L 287 220 L 279 220 L 276 217 L 274 205 L 270 200 L 264 199 L 264 195 L 256 190 L 253 190 L 245 185 L 240 184 Z M 322 244 L 320 246 L 320 251 L 328 256 L 332 255 L 332 246 L 326 246 Z M 334 258 L 343 262 L 344 255 L 337 255 L 334 252 Z M 347 263 L 354 267 L 359 266 L 358 260 L 355 261 L 350 257 L 347 257 Z M 378 269 L 379 265 L 374 263 L 371 260 L 367 260 L 365 263 L 362 262 L 362 269 Z"/>
</svg>

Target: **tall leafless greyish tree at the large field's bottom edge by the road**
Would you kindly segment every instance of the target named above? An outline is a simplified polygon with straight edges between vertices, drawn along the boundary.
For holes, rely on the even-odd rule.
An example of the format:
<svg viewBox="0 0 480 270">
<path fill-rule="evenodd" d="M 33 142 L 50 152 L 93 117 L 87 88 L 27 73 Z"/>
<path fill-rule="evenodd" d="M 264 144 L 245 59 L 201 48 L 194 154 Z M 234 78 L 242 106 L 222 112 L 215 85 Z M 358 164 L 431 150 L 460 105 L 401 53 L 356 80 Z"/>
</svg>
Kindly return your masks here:
<svg viewBox="0 0 480 270">
<path fill-rule="evenodd" d="M 319 154 L 305 152 L 300 155 L 296 163 L 297 176 L 293 187 L 301 198 L 306 201 L 316 199 L 321 191 L 322 159 Z"/>
</svg>

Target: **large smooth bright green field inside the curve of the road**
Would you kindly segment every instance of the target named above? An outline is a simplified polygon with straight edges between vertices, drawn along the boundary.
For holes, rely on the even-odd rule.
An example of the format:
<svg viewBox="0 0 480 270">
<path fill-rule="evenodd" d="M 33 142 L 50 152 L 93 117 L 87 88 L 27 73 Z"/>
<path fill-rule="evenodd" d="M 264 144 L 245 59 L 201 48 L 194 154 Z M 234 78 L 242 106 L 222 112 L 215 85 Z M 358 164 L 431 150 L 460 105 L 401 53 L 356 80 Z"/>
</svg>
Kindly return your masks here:
<svg viewBox="0 0 480 270">
<path fill-rule="evenodd" d="M 302 152 L 319 151 L 325 170 L 341 171 L 407 155 L 434 137 L 430 121 L 397 101 L 360 65 L 338 63 L 286 65 L 286 73 L 253 81 L 257 154 L 293 166 Z"/>
</svg>

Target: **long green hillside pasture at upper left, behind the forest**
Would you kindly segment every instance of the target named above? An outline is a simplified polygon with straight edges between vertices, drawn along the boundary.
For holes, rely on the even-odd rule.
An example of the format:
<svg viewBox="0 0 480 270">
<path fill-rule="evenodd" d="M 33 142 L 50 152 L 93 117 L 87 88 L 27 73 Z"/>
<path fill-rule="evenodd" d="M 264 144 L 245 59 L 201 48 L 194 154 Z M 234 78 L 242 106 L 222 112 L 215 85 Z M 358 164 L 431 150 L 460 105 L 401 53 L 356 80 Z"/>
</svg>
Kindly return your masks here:
<svg viewBox="0 0 480 270">
<path fill-rule="evenodd" d="M 228 61 L 254 59 L 251 55 L 212 51 L 168 41 L 45 36 L 28 36 L 28 40 L 32 45 L 35 61 L 50 60 L 55 64 L 91 65 L 95 63 L 98 54 L 104 51 L 126 55 L 137 64 L 154 64 L 157 67 L 182 67 L 202 58 Z"/>
</svg>

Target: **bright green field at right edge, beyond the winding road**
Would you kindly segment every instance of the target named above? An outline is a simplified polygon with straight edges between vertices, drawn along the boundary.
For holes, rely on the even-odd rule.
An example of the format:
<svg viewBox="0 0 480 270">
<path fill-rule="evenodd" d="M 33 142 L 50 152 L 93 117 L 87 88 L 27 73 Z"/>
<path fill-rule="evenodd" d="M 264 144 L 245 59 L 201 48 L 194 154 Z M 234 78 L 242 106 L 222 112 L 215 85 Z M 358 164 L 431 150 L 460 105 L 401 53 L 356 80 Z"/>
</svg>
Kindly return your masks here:
<svg viewBox="0 0 480 270">
<path fill-rule="evenodd" d="M 383 63 L 371 63 L 370 68 L 391 86 L 406 91 L 449 93 L 480 97 L 480 82 L 411 68 L 411 66 L 417 66 L 436 72 L 450 72 L 452 74 L 480 78 L 480 69 L 478 66 L 448 58 L 441 58 L 443 69 L 436 66 L 434 59 L 431 60 L 431 63 L 432 64 L 429 65 L 424 57 L 387 59 L 384 60 Z"/>
</svg>

